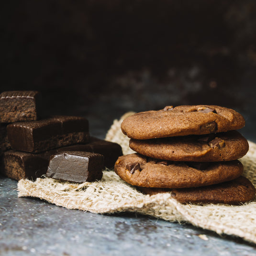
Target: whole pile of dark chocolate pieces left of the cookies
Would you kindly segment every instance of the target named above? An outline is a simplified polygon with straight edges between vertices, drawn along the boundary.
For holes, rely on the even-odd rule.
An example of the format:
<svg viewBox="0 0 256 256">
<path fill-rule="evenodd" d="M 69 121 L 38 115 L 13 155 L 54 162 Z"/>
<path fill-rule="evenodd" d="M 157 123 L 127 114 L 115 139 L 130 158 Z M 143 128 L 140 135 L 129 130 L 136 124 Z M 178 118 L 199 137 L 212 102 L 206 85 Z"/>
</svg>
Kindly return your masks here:
<svg viewBox="0 0 256 256">
<path fill-rule="evenodd" d="M 100 179 L 122 148 L 89 135 L 89 122 L 78 116 L 40 119 L 38 91 L 0 94 L 0 173 L 8 178 L 48 177 L 74 182 Z"/>
</svg>

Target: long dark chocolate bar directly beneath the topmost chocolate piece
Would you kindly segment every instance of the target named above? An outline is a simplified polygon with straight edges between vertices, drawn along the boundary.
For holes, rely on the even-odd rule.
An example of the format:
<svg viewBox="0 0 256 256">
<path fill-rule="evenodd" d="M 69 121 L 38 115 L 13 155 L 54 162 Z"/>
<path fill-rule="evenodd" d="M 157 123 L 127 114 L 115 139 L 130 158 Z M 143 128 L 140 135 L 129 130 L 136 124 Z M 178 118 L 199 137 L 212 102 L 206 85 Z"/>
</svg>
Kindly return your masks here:
<svg viewBox="0 0 256 256">
<path fill-rule="evenodd" d="M 54 116 L 30 122 L 7 125 L 11 148 L 39 153 L 53 148 L 89 141 L 89 122 L 83 117 Z"/>
</svg>

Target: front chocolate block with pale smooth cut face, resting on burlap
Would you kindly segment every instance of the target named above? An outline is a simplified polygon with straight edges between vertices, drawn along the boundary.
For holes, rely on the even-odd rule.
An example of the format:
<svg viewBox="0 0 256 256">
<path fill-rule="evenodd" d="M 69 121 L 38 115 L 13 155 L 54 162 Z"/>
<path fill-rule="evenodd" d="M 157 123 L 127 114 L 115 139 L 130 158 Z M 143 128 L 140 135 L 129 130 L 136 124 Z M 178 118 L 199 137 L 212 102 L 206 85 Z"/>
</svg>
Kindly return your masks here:
<svg viewBox="0 0 256 256">
<path fill-rule="evenodd" d="M 69 182 L 91 182 L 102 178 L 104 156 L 91 152 L 67 151 L 50 157 L 47 177 Z"/>
</svg>

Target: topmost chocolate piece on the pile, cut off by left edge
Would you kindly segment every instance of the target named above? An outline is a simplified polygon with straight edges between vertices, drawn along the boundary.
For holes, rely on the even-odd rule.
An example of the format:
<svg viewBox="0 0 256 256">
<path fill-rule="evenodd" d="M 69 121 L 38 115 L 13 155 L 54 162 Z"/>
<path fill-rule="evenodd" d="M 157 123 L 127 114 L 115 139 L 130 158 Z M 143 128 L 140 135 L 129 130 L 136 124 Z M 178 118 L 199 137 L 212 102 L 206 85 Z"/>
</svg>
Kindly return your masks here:
<svg viewBox="0 0 256 256">
<path fill-rule="evenodd" d="M 41 113 L 38 91 L 5 91 L 0 94 L 0 122 L 37 120 Z"/>
</svg>

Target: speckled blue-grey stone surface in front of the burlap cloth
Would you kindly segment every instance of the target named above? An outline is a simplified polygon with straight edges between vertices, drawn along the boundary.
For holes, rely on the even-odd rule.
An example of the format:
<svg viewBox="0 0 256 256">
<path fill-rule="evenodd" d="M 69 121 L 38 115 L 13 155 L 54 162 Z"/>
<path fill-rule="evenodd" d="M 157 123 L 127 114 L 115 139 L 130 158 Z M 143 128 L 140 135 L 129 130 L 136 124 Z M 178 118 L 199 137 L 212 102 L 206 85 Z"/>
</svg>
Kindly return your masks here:
<svg viewBox="0 0 256 256">
<path fill-rule="evenodd" d="M 68 210 L 39 199 L 18 198 L 16 186 L 16 181 L 0 178 L 0 255 L 256 254 L 255 245 L 240 238 L 133 213 Z"/>
</svg>

